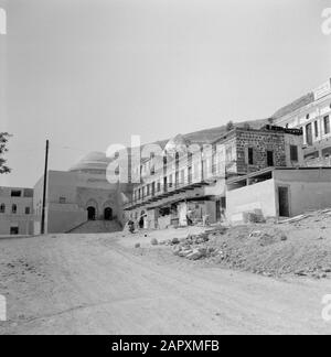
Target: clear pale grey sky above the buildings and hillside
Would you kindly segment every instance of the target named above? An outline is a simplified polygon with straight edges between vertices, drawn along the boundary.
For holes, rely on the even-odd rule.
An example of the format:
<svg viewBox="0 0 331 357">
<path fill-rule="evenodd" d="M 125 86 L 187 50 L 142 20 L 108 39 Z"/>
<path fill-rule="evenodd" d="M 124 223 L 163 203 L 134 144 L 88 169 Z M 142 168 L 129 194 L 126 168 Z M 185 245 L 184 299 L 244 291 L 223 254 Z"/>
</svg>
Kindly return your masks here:
<svg viewBox="0 0 331 357">
<path fill-rule="evenodd" d="M 90 151 L 270 117 L 331 77 L 331 0 L 0 0 L 0 131 L 33 186 Z"/>
</svg>

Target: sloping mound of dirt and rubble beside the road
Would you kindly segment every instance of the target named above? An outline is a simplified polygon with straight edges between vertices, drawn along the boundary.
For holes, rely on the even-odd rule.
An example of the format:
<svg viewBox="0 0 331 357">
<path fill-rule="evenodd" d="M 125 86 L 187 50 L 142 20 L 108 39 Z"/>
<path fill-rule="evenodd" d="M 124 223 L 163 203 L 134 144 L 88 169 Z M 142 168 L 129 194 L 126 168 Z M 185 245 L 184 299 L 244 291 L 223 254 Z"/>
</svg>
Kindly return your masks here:
<svg viewBox="0 0 331 357">
<path fill-rule="evenodd" d="M 204 259 L 224 268 L 267 277 L 331 277 L 331 214 L 310 213 L 282 224 L 231 227 L 196 237 L 173 248 L 180 257 Z M 197 253 L 199 252 L 199 253 Z"/>
</svg>

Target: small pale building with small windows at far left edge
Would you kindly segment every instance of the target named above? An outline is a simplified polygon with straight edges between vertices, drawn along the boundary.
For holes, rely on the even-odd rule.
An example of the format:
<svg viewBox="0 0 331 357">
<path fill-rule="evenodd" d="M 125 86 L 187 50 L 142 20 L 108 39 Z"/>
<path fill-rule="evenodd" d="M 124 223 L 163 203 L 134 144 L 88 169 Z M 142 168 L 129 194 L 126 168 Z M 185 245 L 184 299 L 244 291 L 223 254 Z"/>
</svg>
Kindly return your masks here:
<svg viewBox="0 0 331 357">
<path fill-rule="evenodd" d="M 33 190 L 0 187 L 0 236 L 33 234 Z"/>
</svg>

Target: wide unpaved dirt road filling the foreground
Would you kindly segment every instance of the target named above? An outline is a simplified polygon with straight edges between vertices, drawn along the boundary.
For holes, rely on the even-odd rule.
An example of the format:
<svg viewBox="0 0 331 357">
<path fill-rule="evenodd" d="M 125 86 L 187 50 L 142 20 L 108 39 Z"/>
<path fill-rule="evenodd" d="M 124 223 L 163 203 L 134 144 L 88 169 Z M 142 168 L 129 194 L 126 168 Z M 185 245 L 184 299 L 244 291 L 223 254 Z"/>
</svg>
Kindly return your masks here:
<svg viewBox="0 0 331 357">
<path fill-rule="evenodd" d="M 331 333 L 321 318 L 330 280 L 226 271 L 125 239 L 0 240 L 0 334 Z"/>
</svg>

